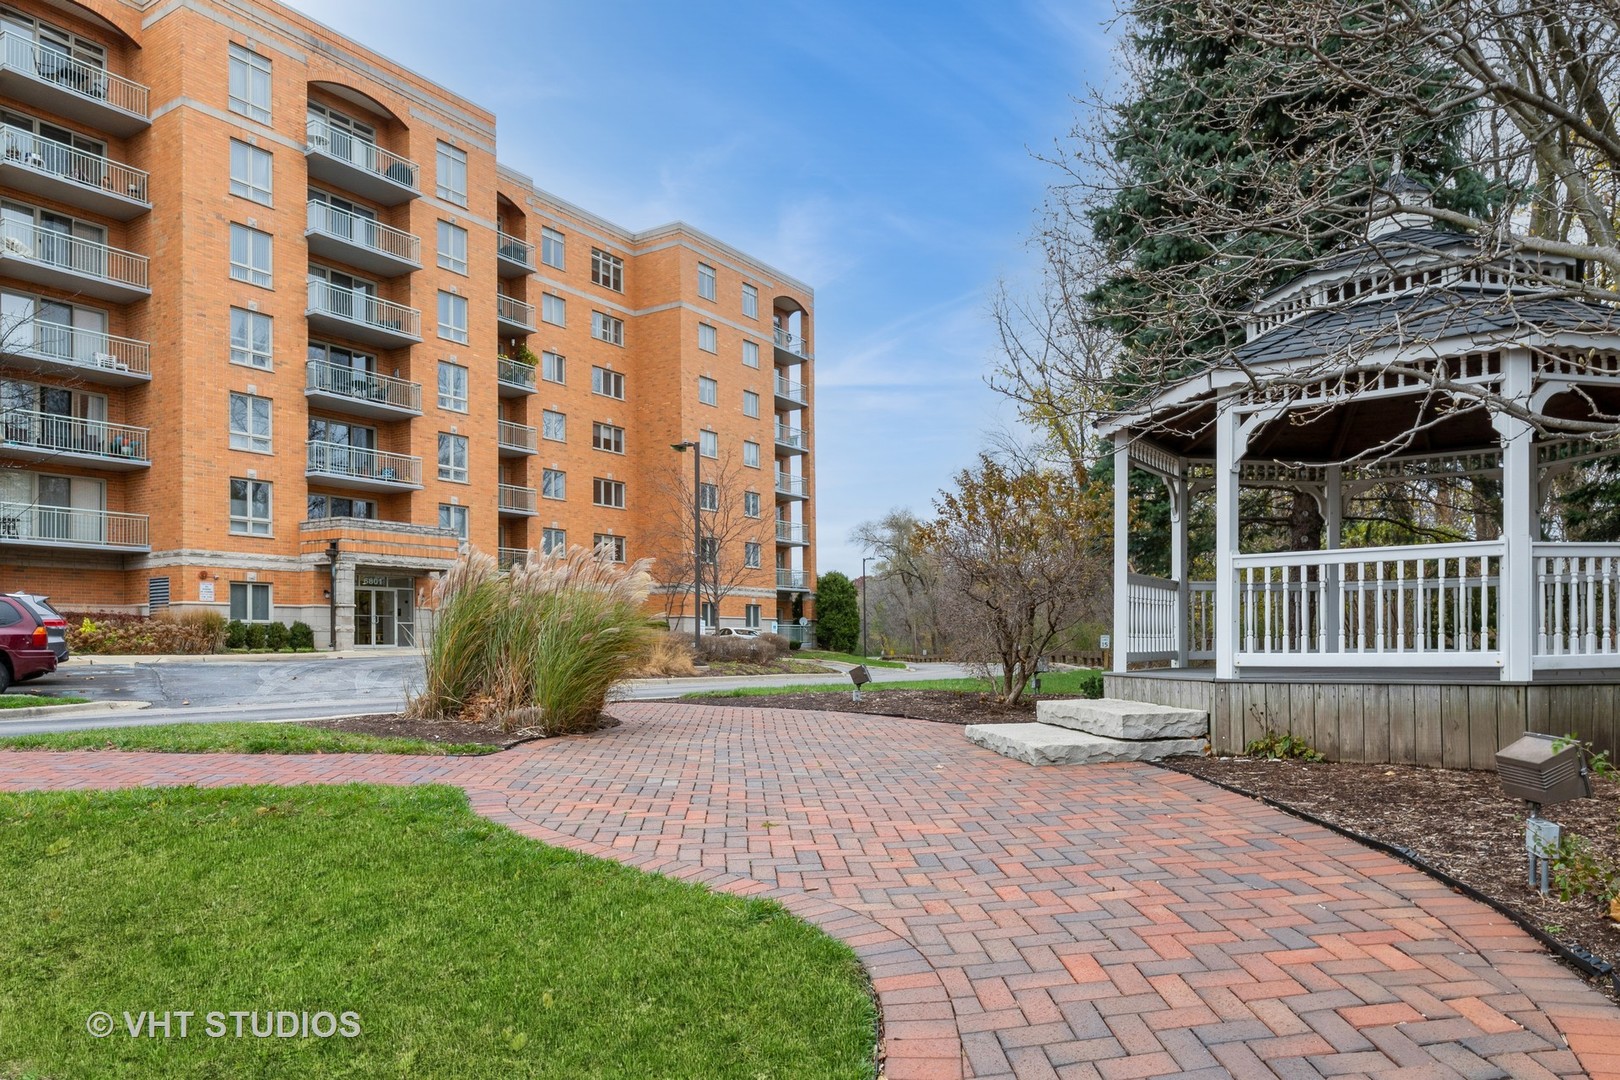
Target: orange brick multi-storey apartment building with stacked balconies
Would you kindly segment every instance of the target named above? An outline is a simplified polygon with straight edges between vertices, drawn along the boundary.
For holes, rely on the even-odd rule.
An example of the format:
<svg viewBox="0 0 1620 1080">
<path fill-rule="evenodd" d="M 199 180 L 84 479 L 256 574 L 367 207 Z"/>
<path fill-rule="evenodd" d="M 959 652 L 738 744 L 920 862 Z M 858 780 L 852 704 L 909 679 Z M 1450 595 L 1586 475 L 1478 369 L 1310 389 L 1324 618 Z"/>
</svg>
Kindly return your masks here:
<svg viewBox="0 0 1620 1080">
<path fill-rule="evenodd" d="M 275 3 L 0 6 L 5 589 L 410 644 L 468 544 L 656 554 L 692 440 L 705 508 L 744 502 L 718 620 L 802 635 L 812 306 L 546 194 L 492 113 Z"/>
</svg>

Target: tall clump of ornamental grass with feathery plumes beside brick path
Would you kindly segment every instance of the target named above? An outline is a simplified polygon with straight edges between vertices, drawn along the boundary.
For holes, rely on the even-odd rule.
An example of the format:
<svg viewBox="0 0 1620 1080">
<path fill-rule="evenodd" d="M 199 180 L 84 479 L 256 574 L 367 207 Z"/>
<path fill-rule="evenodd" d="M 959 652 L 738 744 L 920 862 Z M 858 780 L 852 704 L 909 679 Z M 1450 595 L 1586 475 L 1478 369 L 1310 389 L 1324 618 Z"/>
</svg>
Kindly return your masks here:
<svg viewBox="0 0 1620 1080">
<path fill-rule="evenodd" d="M 501 575 L 483 552 L 434 588 L 434 635 L 410 712 L 491 719 L 549 735 L 593 727 L 608 690 L 646 656 L 650 560 L 620 567 L 586 547 Z"/>
</svg>

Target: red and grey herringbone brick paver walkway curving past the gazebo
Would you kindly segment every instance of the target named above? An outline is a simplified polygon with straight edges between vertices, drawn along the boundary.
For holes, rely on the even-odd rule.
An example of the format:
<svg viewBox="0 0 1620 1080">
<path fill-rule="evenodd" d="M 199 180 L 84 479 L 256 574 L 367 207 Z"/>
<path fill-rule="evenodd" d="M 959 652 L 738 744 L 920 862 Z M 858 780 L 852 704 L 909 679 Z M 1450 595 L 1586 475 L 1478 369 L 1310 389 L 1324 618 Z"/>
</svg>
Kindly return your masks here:
<svg viewBox="0 0 1620 1080">
<path fill-rule="evenodd" d="M 0 755 L 0 789 L 450 782 L 518 832 L 849 941 L 886 1075 L 1620 1075 L 1620 1010 L 1489 908 L 1149 766 L 920 721 L 622 704 L 492 758 Z"/>
</svg>

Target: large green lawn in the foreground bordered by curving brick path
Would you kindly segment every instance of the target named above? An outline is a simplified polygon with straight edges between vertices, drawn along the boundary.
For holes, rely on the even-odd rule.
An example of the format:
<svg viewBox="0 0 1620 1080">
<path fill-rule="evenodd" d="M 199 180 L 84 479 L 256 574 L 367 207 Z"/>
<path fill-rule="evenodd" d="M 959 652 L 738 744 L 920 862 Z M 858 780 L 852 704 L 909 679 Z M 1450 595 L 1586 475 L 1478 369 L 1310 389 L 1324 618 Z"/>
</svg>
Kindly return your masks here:
<svg viewBox="0 0 1620 1080">
<path fill-rule="evenodd" d="M 0 795 L 0 1077 L 873 1075 L 846 946 L 449 787 Z M 126 1010 L 198 1015 L 131 1038 Z M 233 1038 L 227 1015 L 211 1038 L 211 1010 L 352 1010 L 361 1033 Z"/>
</svg>

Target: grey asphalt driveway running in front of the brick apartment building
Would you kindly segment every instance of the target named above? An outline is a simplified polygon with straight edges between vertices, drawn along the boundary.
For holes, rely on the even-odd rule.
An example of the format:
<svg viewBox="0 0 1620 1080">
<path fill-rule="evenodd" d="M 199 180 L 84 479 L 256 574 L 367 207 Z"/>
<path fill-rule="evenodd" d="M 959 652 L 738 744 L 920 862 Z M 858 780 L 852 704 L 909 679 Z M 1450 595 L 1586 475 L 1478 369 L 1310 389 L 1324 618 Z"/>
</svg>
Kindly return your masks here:
<svg viewBox="0 0 1620 1080">
<path fill-rule="evenodd" d="M 906 670 L 873 667 L 878 682 L 959 678 L 954 664 L 917 664 Z M 366 656 L 321 661 L 165 662 L 165 664 L 68 664 L 28 683 L 37 693 L 79 695 L 92 701 L 149 701 L 147 709 L 109 709 L 5 719 L 0 735 L 68 732 L 89 727 L 138 727 L 147 724 L 199 724 L 206 721 L 305 721 L 358 712 L 392 712 L 421 683 L 421 657 Z M 672 698 L 684 693 L 724 690 L 737 685 L 787 687 L 802 683 L 849 685 L 847 675 L 758 675 L 747 678 L 651 678 L 625 683 L 619 699 Z"/>
</svg>

